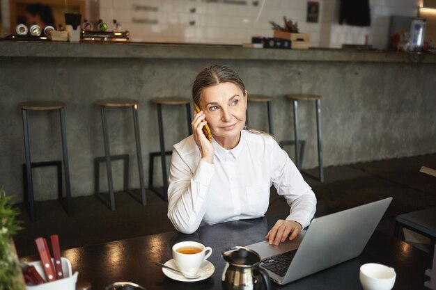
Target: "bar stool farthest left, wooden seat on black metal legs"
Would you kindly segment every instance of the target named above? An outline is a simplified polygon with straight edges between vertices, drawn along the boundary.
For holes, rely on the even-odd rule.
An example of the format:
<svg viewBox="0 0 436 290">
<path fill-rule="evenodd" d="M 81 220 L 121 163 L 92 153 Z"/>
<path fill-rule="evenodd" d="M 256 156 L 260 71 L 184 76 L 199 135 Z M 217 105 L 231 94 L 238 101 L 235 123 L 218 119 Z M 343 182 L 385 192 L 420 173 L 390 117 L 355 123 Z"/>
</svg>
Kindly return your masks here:
<svg viewBox="0 0 436 290">
<path fill-rule="evenodd" d="M 30 220 L 34 222 L 35 207 L 33 204 L 33 179 L 32 168 L 56 166 L 58 172 L 58 200 L 63 205 L 68 216 L 71 215 L 71 191 L 70 191 L 70 169 L 68 165 L 68 149 L 67 149 L 67 133 L 65 129 L 65 104 L 62 102 L 54 101 L 32 101 L 22 102 L 18 104 L 22 109 L 23 131 L 24 131 L 24 153 L 26 156 L 26 164 L 23 164 L 24 173 L 24 200 L 29 210 Z M 65 178 L 65 192 L 66 192 L 66 206 L 63 204 L 62 193 L 62 177 L 61 177 L 61 161 L 45 161 L 45 162 L 31 162 L 30 142 L 29 142 L 29 122 L 27 111 L 52 111 L 59 110 L 59 117 L 61 119 L 61 139 L 62 139 L 62 154 L 63 154 L 63 170 Z"/>
</svg>

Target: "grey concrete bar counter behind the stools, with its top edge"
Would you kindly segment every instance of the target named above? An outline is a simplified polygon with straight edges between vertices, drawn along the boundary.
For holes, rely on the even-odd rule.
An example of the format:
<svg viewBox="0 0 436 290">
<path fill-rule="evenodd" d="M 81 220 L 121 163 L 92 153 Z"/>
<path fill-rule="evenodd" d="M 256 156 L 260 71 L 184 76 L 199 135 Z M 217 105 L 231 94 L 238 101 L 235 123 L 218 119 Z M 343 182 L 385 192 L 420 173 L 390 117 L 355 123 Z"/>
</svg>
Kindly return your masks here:
<svg viewBox="0 0 436 290">
<path fill-rule="evenodd" d="M 0 42 L 0 186 L 22 200 L 24 142 L 17 104 L 59 100 L 65 108 L 73 196 L 91 195 L 93 159 L 104 155 L 95 100 L 139 100 L 143 166 L 159 150 L 154 97 L 190 97 L 202 67 L 231 65 L 252 94 L 271 95 L 274 135 L 293 139 L 290 92 L 322 96 L 325 166 L 436 152 L 436 56 L 389 51 L 309 49 L 290 51 L 231 46 Z M 185 110 L 164 106 L 166 150 L 187 136 Z M 250 104 L 251 127 L 267 130 L 266 109 Z M 107 114 L 111 154 L 130 154 L 130 186 L 139 187 L 131 111 Z M 29 112 L 32 161 L 61 160 L 59 115 Z M 300 102 L 306 140 L 304 168 L 317 164 L 313 102 Z M 293 148 L 288 147 L 293 159 Z M 157 160 L 156 160 L 157 161 Z M 114 161 L 114 186 L 123 187 Z M 155 184 L 162 183 L 155 162 Z M 107 190 L 104 165 L 100 188 Z M 146 180 L 146 183 L 148 180 Z M 33 170 L 36 200 L 56 198 L 56 168 Z"/>
</svg>

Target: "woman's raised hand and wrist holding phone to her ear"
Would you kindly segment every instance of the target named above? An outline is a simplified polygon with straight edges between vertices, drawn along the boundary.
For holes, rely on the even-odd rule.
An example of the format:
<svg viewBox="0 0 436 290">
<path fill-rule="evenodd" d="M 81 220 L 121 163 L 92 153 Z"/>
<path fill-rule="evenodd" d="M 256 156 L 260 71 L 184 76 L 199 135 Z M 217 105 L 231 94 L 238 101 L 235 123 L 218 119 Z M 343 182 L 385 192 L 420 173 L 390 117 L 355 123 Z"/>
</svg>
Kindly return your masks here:
<svg viewBox="0 0 436 290">
<path fill-rule="evenodd" d="M 203 134 L 203 127 L 208 122 L 205 120 L 205 113 L 199 111 L 194 112 L 194 120 L 191 122 L 194 140 L 201 153 L 201 159 L 208 163 L 213 163 L 214 149 L 212 143 Z"/>
</svg>

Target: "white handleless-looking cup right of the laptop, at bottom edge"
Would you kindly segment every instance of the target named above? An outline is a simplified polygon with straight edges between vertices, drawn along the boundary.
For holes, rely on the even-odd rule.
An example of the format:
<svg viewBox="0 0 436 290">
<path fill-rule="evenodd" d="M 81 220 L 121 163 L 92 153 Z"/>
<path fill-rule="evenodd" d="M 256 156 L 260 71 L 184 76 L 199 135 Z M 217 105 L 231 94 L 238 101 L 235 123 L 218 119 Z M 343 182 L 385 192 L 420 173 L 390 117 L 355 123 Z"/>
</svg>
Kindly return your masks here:
<svg viewBox="0 0 436 290">
<path fill-rule="evenodd" d="M 375 263 L 360 267 L 360 282 L 364 290 L 391 290 L 395 279 L 394 268 Z"/>
</svg>

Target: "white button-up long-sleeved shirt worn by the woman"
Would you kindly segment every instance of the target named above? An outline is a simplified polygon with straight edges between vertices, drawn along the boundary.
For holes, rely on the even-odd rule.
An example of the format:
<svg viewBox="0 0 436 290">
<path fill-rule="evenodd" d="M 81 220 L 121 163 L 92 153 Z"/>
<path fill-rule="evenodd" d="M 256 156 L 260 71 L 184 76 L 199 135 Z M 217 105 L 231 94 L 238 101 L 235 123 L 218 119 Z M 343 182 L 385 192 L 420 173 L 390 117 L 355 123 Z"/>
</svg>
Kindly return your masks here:
<svg viewBox="0 0 436 290">
<path fill-rule="evenodd" d="M 264 216 L 272 184 L 290 205 L 286 219 L 309 225 L 315 194 L 274 138 L 242 130 L 235 148 L 226 150 L 214 139 L 212 145 L 213 164 L 201 160 L 193 136 L 174 145 L 168 217 L 179 232 L 191 234 L 202 223 Z"/>
</svg>

